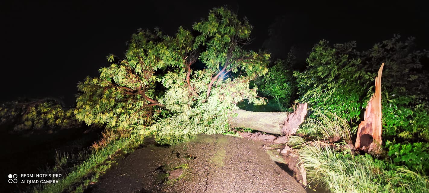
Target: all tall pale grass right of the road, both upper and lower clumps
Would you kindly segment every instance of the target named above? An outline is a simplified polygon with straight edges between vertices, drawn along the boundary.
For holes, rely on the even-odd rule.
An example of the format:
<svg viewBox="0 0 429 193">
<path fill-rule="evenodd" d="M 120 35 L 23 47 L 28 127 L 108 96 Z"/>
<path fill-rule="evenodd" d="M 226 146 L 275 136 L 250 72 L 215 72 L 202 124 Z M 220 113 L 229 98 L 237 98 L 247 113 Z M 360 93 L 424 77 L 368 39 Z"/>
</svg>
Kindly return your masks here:
<svg viewBox="0 0 429 193">
<path fill-rule="evenodd" d="M 349 124 L 337 115 L 314 111 L 313 117 L 302 125 L 303 130 L 324 139 L 338 136 L 350 140 Z M 387 160 L 368 154 L 355 156 L 350 148 L 338 151 L 324 142 L 308 142 L 300 147 L 299 164 L 306 169 L 308 181 L 323 184 L 332 193 L 429 192 L 427 176 Z M 348 146 L 344 143 L 344 147 Z"/>
</svg>

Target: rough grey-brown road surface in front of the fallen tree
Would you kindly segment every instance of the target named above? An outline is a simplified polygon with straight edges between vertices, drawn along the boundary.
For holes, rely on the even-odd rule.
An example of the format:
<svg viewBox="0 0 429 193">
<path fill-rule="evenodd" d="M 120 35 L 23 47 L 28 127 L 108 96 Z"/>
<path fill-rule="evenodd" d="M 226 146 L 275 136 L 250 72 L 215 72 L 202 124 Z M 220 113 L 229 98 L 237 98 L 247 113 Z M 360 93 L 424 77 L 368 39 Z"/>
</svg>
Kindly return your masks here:
<svg viewBox="0 0 429 193">
<path fill-rule="evenodd" d="M 169 147 L 148 145 L 118 161 L 87 192 L 305 193 L 264 144 L 199 135 Z"/>
</svg>

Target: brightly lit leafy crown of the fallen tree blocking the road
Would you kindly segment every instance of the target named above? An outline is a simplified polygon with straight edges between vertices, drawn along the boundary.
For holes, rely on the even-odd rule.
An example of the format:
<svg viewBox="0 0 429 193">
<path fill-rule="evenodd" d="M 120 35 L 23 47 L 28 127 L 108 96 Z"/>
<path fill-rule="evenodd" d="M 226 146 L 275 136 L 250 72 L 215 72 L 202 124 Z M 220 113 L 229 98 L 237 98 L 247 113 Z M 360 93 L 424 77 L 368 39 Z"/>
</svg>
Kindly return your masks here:
<svg viewBox="0 0 429 193">
<path fill-rule="evenodd" d="M 162 143 L 225 132 L 237 103 L 265 103 L 249 84 L 268 71 L 269 54 L 243 48 L 251 29 L 246 19 L 221 7 L 195 23 L 193 32 L 139 30 L 123 60 L 79 84 L 76 117 L 116 130 L 137 129 Z M 197 60 L 204 69 L 193 69 Z"/>
</svg>

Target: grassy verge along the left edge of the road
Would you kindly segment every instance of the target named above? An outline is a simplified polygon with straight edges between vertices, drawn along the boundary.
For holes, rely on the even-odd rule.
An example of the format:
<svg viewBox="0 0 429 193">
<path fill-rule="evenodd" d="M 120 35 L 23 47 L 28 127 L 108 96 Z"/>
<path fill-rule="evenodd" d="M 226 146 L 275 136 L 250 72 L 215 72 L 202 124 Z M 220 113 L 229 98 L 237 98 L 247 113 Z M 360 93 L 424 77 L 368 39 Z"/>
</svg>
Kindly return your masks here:
<svg viewBox="0 0 429 193">
<path fill-rule="evenodd" d="M 143 144 L 138 133 L 118 133 L 105 131 L 103 138 L 78 154 L 57 154 L 56 164 L 43 170 L 45 173 L 62 174 L 57 184 L 45 184 L 33 187 L 28 192 L 81 193 L 89 185 L 97 182 L 118 157 L 124 157 Z"/>
</svg>

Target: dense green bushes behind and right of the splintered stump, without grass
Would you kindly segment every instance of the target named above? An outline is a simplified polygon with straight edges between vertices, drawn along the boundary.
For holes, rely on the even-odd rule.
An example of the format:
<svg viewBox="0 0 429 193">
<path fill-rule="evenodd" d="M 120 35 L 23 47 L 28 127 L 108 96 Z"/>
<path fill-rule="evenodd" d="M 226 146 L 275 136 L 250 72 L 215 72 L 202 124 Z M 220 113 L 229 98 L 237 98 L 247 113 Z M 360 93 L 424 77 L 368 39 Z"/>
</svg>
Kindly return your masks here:
<svg viewBox="0 0 429 193">
<path fill-rule="evenodd" d="M 356 42 L 329 45 L 323 40 L 314 45 L 305 70 L 287 76 L 289 69 L 279 72 L 281 69 L 274 66 L 268 74 L 275 75 L 270 77 L 273 80 L 295 86 L 297 102 L 307 102 L 318 112 L 333 112 L 356 128 L 384 62 L 381 91 L 385 148 L 394 163 L 428 171 L 429 75 L 424 66 L 428 57 L 429 51 L 415 50 L 414 38 L 402 41 L 394 36 L 367 51 L 357 51 Z M 287 89 L 280 91 L 284 96 L 291 94 Z"/>
</svg>

